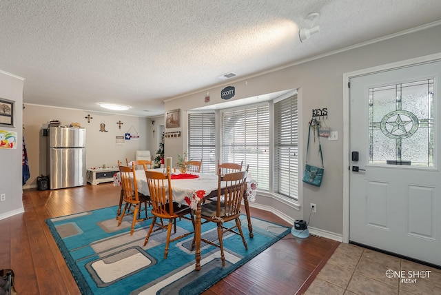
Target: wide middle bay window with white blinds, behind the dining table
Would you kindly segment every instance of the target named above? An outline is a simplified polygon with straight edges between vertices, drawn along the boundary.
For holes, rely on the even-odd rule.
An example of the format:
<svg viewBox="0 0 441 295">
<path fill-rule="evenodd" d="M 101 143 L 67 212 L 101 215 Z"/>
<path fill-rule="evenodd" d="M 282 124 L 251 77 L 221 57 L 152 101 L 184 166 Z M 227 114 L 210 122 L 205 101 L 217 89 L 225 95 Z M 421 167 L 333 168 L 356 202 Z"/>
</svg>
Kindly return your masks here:
<svg viewBox="0 0 441 295">
<path fill-rule="evenodd" d="M 220 162 L 249 165 L 259 190 L 269 190 L 269 105 L 221 112 Z"/>
</svg>

